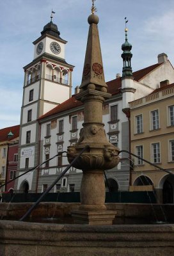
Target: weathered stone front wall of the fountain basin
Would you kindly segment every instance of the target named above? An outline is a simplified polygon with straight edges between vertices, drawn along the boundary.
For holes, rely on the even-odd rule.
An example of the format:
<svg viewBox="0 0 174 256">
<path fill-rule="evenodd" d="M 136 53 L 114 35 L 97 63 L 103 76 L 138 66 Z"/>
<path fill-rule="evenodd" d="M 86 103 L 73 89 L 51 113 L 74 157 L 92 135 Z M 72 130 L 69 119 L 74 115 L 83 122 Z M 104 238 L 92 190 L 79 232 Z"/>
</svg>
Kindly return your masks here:
<svg viewBox="0 0 174 256">
<path fill-rule="evenodd" d="M 58 225 L 0 221 L 0 255 L 173 255 L 174 225 Z"/>
</svg>

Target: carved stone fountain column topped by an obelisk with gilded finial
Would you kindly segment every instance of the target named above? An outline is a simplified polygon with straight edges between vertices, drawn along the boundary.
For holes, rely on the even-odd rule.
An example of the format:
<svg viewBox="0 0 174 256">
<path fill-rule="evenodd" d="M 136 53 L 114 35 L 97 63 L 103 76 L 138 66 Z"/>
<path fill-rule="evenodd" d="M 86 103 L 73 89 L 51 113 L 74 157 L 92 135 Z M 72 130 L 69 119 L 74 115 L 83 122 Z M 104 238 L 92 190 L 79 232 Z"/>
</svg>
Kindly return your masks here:
<svg viewBox="0 0 174 256">
<path fill-rule="evenodd" d="M 95 6 L 88 17 L 90 24 L 83 77 L 77 100 L 84 103 L 84 124 L 79 141 L 68 147 L 68 161 L 71 162 L 81 150 L 88 145 L 89 151 L 84 152 L 74 164 L 83 170 L 81 182 L 81 206 L 79 211 L 72 212 L 76 223 L 111 224 L 116 212 L 106 211 L 104 170 L 118 164 L 118 148 L 111 145 L 106 138 L 102 122 L 102 105 L 111 97 L 107 93 L 104 79 L 102 54 L 100 49 L 99 17 L 95 15 Z"/>
</svg>

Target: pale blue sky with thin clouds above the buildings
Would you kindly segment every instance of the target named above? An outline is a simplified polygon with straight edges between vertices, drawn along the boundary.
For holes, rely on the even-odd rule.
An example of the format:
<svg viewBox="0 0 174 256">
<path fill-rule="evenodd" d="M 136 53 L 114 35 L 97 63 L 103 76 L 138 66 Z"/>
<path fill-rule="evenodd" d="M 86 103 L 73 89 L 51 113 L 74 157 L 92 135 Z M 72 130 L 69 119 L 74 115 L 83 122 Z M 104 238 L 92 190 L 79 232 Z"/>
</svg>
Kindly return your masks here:
<svg viewBox="0 0 174 256">
<path fill-rule="evenodd" d="M 50 21 L 68 43 L 65 60 L 75 66 L 73 89 L 81 84 L 91 0 L 0 0 L 0 129 L 20 124 L 23 67 L 33 61 L 32 44 Z M 122 74 L 125 17 L 132 44 L 132 70 L 157 63 L 165 52 L 174 65 L 173 0 L 96 0 L 106 82 Z"/>
</svg>

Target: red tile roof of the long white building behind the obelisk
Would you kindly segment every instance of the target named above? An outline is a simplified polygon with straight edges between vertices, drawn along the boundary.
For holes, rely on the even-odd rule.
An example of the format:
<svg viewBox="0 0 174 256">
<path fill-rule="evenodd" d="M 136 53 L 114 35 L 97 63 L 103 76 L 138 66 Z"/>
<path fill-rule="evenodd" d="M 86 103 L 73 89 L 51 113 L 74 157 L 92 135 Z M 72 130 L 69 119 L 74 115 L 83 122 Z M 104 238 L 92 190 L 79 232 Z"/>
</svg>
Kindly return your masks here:
<svg viewBox="0 0 174 256">
<path fill-rule="evenodd" d="M 161 63 L 162 64 L 162 63 Z M 134 77 L 134 80 L 139 81 L 143 77 L 145 77 L 147 74 L 152 72 L 155 68 L 159 67 L 161 64 L 155 64 L 150 67 L 143 68 L 141 70 L 138 70 L 136 72 L 133 72 L 132 75 Z M 121 91 L 122 88 L 122 80 L 121 77 L 118 77 L 116 79 L 113 79 L 111 81 L 108 81 L 107 83 L 107 92 L 111 93 L 112 95 L 115 95 Z M 72 96 L 70 99 L 66 100 L 65 102 L 59 104 L 56 108 L 52 109 L 51 111 L 45 113 L 45 115 L 40 116 L 39 120 L 42 118 L 45 118 L 47 116 L 51 116 L 57 113 L 60 113 L 62 111 L 75 108 L 77 106 L 83 105 L 82 102 L 79 100 L 75 100 L 75 97 Z"/>
</svg>

